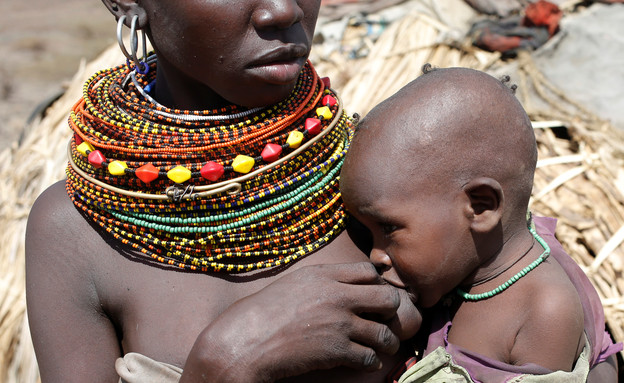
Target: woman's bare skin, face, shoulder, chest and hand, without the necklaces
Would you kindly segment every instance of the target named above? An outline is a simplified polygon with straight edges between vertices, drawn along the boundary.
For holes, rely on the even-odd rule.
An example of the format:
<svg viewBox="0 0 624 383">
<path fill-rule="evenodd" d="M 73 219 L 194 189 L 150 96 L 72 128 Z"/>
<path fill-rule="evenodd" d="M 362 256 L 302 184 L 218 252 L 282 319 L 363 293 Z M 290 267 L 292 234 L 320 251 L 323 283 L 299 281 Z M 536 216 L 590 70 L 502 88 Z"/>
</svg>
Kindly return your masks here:
<svg viewBox="0 0 624 383">
<path fill-rule="evenodd" d="M 159 102 L 212 109 L 287 97 L 320 1 L 104 4 L 128 23 L 139 15 L 159 56 Z M 166 270 L 133 260 L 93 226 L 63 182 L 33 206 L 26 272 L 43 382 L 116 382 L 115 360 L 128 352 L 183 367 L 181 382 L 381 382 L 406 358 L 399 340 L 420 325 L 407 294 L 379 277 L 347 232 L 274 272 Z"/>
</svg>

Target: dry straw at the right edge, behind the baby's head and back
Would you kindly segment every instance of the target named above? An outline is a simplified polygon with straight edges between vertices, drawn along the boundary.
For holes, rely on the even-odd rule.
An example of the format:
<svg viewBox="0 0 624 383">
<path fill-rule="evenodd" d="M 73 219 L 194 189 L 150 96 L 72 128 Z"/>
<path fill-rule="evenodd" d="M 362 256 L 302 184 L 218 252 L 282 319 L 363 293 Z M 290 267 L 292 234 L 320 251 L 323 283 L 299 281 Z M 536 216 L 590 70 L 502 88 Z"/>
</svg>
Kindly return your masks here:
<svg viewBox="0 0 624 383">
<path fill-rule="evenodd" d="M 531 210 L 559 220 L 557 237 L 598 291 L 611 335 L 624 341 L 624 132 L 570 100 L 518 58 L 519 97 L 537 121 Z"/>
</svg>

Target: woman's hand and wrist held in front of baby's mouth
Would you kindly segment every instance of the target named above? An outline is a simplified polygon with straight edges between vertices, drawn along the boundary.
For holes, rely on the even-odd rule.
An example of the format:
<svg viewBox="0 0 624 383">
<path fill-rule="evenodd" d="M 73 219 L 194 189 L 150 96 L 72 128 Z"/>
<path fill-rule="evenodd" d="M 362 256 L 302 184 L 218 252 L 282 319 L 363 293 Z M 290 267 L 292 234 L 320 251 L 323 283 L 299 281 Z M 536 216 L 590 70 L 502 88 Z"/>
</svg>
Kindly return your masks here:
<svg viewBox="0 0 624 383">
<path fill-rule="evenodd" d="M 370 263 L 303 267 L 213 321 L 180 382 L 272 382 L 338 366 L 376 370 L 377 354 L 395 353 L 420 319 L 407 293 L 384 283 Z"/>
</svg>

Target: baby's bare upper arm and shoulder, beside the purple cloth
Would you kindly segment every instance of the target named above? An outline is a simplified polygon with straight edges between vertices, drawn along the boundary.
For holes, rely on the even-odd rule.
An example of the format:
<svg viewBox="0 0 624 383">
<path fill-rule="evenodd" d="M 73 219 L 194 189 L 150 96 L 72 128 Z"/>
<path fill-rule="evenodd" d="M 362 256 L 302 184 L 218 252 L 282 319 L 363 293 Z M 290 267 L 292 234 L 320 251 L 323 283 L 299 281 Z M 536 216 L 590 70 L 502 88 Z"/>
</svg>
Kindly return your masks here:
<svg viewBox="0 0 624 383">
<path fill-rule="evenodd" d="M 585 345 L 583 309 L 566 283 L 541 284 L 526 294 L 511 349 L 513 364 L 535 363 L 553 371 L 571 371 Z"/>
</svg>

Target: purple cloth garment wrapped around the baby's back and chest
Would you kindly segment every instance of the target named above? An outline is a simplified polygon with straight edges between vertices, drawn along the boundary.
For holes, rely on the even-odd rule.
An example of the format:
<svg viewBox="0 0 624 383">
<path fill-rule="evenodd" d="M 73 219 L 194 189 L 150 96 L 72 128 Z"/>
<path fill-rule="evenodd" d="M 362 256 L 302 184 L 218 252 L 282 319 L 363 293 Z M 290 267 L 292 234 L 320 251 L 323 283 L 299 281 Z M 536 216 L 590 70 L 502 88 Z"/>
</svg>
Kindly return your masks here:
<svg viewBox="0 0 624 383">
<path fill-rule="evenodd" d="M 598 293 L 583 270 L 570 258 L 555 238 L 557 221 L 553 218 L 534 217 L 534 222 L 537 232 L 550 246 L 550 256 L 561 265 L 578 292 L 584 311 L 585 334 L 591 346 L 589 365 L 592 368 L 621 351 L 622 344 L 614 344 L 605 331 L 604 311 Z M 428 355 L 440 346 L 445 348 L 453 357 L 453 361 L 465 368 L 475 382 L 505 382 L 522 374 L 542 375 L 552 372 L 533 363 L 521 366 L 509 365 L 449 343 L 448 331 L 451 327 L 451 320 L 448 311 L 442 308 L 435 310 L 434 315 L 432 332 L 429 335 L 424 355 Z"/>
</svg>

